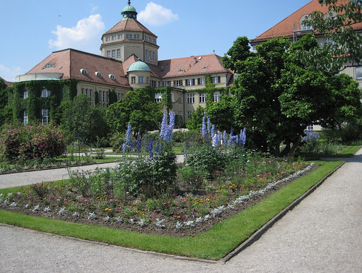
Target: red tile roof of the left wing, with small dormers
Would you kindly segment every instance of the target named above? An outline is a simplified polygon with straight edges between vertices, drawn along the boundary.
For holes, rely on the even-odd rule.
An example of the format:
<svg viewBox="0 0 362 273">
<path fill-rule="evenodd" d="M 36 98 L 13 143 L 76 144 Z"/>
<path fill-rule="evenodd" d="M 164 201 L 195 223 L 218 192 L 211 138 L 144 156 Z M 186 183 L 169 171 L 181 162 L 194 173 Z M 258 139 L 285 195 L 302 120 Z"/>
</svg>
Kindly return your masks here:
<svg viewBox="0 0 362 273">
<path fill-rule="evenodd" d="M 47 63 L 51 63 L 54 67 L 44 69 Z M 82 74 L 81 69 L 86 69 L 88 74 Z M 102 77 L 95 75 L 96 71 L 102 73 Z M 31 73 L 63 73 L 62 79 L 71 78 L 90 83 L 130 88 L 128 80 L 124 75 L 121 61 L 76 49 L 54 51 L 37 66 L 28 71 L 27 74 Z M 110 74 L 115 75 L 115 80 L 109 77 Z"/>
</svg>

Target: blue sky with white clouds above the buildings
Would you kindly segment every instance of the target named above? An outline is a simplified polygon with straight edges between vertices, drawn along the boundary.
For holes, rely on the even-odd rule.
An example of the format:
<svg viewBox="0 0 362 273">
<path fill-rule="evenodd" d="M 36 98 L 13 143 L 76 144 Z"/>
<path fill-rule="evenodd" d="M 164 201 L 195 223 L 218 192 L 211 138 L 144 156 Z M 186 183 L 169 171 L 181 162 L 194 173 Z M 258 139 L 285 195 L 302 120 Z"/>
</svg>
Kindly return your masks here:
<svg viewBox="0 0 362 273">
<path fill-rule="evenodd" d="M 158 59 L 215 53 L 250 40 L 311 0 L 132 0 L 138 20 L 158 36 Z M 0 76 L 14 81 L 52 51 L 100 54 L 101 37 L 127 0 L 0 0 Z"/>
</svg>

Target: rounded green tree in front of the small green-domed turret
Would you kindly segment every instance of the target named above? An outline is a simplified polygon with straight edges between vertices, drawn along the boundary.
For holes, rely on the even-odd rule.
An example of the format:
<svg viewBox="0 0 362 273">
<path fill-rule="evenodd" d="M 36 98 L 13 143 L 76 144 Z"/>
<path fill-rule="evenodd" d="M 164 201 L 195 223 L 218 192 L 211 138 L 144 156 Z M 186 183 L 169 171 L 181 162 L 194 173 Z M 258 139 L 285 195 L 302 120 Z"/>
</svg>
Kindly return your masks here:
<svg viewBox="0 0 362 273">
<path fill-rule="evenodd" d="M 107 123 L 113 133 L 123 132 L 131 123 L 134 135 L 158 130 L 162 121 L 162 105 L 153 102 L 150 88 L 127 92 L 124 99 L 107 109 Z"/>
</svg>

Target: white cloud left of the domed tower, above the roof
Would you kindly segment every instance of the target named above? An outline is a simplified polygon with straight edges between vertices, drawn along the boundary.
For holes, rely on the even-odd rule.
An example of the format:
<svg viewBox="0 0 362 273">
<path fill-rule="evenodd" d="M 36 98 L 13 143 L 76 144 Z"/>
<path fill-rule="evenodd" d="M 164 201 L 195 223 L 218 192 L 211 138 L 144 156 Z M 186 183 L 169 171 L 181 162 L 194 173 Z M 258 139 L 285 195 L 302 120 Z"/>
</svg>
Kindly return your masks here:
<svg viewBox="0 0 362 273">
<path fill-rule="evenodd" d="M 100 14 L 79 20 L 75 27 L 65 28 L 57 25 L 52 33 L 57 40 L 49 40 L 49 47 L 59 49 L 74 48 L 99 53 L 100 38 L 105 30 L 105 23 Z"/>
</svg>

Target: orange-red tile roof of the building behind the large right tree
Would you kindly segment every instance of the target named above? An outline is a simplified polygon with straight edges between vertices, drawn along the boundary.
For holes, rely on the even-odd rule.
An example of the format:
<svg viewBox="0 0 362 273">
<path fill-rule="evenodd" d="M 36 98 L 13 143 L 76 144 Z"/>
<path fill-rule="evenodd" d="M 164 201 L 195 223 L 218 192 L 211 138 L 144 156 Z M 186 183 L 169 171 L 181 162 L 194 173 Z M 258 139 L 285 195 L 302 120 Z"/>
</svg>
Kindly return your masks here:
<svg viewBox="0 0 362 273">
<path fill-rule="evenodd" d="M 264 42 L 274 37 L 293 37 L 293 24 L 295 25 L 296 30 L 300 30 L 300 18 L 302 18 L 302 16 L 312 13 L 313 11 L 322 11 L 323 13 L 327 13 L 328 7 L 319 4 L 319 0 L 310 1 L 302 8 L 299 8 L 298 11 L 292 13 L 290 16 L 274 25 L 274 27 L 269 28 L 269 30 L 262 33 L 262 35 L 259 35 L 254 40 L 251 40 L 251 44 Z M 355 24 L 354 29 L 362 29 L 362 23 Z"/>
</svg>

